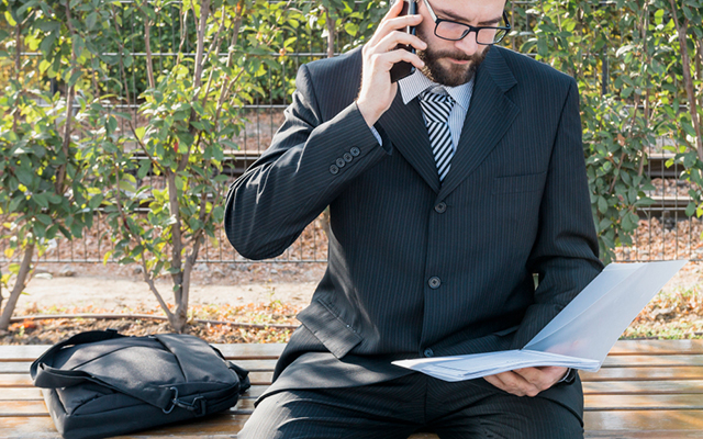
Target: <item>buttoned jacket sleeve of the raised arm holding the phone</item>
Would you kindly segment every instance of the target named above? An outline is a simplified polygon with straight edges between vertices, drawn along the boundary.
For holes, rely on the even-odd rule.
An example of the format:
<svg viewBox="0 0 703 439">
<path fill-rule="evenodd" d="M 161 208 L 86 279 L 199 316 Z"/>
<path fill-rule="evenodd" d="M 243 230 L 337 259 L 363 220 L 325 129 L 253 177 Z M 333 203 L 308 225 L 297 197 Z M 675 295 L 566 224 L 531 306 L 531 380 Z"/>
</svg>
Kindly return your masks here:
<svg viewBox="0 0 703 439">
<path fill-rule="evenodd" d="M 225 233 L 249 259 L 282 254 L 350 181 L 391 154 L 390 140 L 379 128 L 379 145 L 356 102 L 325 120 L 305 65 L 295 87 L 271 146 L 227 194 Z"/>
</svg>

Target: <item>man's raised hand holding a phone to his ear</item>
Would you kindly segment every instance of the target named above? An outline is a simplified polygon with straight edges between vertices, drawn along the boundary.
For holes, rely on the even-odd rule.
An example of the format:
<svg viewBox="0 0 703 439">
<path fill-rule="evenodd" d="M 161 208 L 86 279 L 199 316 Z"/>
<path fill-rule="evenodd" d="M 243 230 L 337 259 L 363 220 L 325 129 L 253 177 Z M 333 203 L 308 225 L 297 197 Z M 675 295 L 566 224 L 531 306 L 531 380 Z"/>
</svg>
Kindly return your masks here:
<svg viewBox="0 0 703 439">
<path fill-rule="evenodd" d="M 427 46 L 415 35 L 404 32 L 408 26 L 419 25 L 422 16 L 401 15 L 402 10 L 403 0 L 397 0 L 362 49 L 361 90 L 357 105 L 369 126 L 373 126 L 395 98 L 398 83 L 391 82 L 390 74 L 393 65 L 401 61 L 410 63 L 415 68 L 424 65 L 417 55 L 398 47 L 404 44 L 422 50 Z"/>
</svg>

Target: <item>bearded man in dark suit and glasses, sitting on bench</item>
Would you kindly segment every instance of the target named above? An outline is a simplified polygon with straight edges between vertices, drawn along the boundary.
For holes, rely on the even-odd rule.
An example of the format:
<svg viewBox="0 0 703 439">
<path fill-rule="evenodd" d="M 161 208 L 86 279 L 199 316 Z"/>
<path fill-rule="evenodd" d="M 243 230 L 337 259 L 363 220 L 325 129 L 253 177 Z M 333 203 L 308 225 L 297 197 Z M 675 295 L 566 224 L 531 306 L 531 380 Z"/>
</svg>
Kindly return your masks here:
<svg viewBox="0 0 703 439">
<path fill-rule="evenodd" d="M 395 3 L 362 49 L 300 68 L 225 230 L 270 258 L 330 206 L 328 267 L 241 438 L 582 436 L 573 371 L 447 383 L 391 364 L 521 348 L 602 269 L 576 81 L 493 46 L 503 8 Z M 417 70 L 393 83 L 399 61 Z"/>
</svg>

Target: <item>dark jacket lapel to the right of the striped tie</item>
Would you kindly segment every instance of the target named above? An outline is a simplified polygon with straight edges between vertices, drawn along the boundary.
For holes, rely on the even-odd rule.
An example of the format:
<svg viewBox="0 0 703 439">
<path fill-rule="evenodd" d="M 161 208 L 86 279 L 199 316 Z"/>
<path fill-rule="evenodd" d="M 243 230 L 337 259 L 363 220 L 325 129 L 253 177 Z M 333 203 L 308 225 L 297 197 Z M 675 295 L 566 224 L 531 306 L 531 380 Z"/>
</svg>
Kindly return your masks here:
<svg viewBox="0 0 703 439">
<path fill-rule="evenodd" d="M 491 48 L 477 71 L 461 137 L 438 199 L 446 198 L 481 165 L 520 113 L 517 105 L 505 95 L 517 81 L 500 50 Z"/>
</svg>

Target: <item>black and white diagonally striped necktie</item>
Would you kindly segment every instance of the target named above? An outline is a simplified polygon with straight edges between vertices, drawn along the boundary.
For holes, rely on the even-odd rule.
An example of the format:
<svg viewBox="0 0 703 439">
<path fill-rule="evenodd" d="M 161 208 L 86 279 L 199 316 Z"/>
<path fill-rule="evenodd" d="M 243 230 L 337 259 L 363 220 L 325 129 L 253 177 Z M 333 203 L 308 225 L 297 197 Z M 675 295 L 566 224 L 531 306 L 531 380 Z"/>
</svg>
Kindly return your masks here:
<svg viewBox="0 0 703 439">
<path fill-rule="evenodd" d="M 429 134 L 432 155 L 435 157 L 439 182 L 444 180 L 451 166 L 454 145 L 449 132 L 449 113 L 454 106 L 454 99 L 449 94 L 423 92 L 420 95 L 420 105 L 425 113 L 425 124 Z"/>
</svg>

